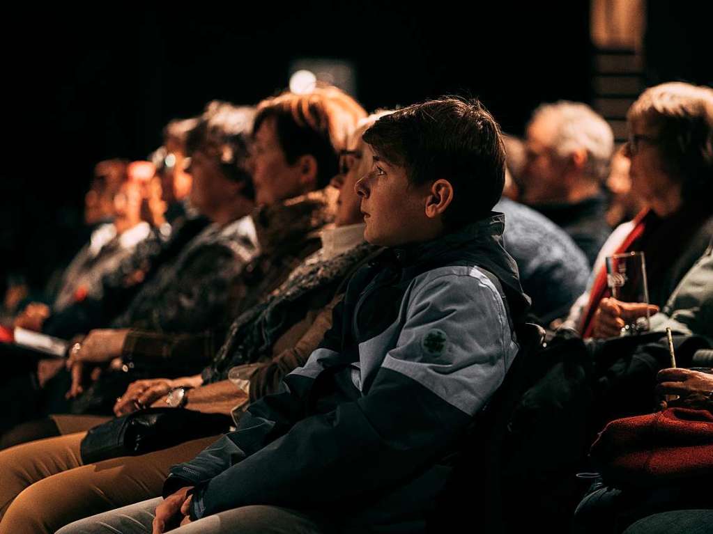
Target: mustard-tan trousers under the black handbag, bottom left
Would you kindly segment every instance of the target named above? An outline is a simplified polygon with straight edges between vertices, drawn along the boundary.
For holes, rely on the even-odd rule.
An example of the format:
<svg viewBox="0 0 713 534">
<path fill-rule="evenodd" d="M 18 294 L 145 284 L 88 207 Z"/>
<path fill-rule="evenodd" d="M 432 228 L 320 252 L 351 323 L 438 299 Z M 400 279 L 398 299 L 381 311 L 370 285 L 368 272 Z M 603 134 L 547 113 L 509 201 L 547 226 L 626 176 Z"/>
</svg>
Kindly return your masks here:
<svg viewBox="0 0 713 534">
<path fill-rule="evenodd" d="M 219 437 L 83 466 L 79 446 L 85 434 L 0 451 L 0 534 L 54 533 L 88 515 L 160 496 L 168 470 Z"/>
</svg>

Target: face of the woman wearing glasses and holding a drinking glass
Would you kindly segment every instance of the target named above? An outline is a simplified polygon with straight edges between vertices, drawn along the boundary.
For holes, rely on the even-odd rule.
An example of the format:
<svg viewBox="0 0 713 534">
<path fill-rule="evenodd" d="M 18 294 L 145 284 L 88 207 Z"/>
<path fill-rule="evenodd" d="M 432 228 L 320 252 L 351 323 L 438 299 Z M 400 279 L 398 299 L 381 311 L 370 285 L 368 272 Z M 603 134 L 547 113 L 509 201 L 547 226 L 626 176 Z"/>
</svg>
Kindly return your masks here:
<svg viewBox="0 0 713 534">
<path fill-rule="evenodd" d="M 629 129 L 626 155 L 632 189 L 658 216 L 669 216 L 681 205 L 681 185 L 665 170 L 658 132 L 640 123 Z"/>
</svg>

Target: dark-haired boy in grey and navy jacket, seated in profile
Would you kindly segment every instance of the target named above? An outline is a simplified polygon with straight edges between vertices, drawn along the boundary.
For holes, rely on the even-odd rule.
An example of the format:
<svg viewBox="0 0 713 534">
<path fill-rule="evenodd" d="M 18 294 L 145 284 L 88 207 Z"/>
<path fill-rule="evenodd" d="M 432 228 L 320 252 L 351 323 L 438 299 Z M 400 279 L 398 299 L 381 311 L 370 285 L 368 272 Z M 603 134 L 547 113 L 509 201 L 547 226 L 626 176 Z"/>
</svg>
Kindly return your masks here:
<svg viewBox="0 0 713 534">
<path fill-rule="evenodd" d="M 237 431 L 175 466 L 163 501 L 62 534 L 193 521 L 177 532 L 424 531 L 446 458 L 518 351 L 528 298 L 501 243 L 503 217 L 490 212 L 504 159 L 491 115 L 444 98 L 373 129 L 374 166 L 356 192 L 367 241 L 389 248 L 356 272 L 307 364 Z M 478 209 L 453 209 L 470 189 L 485 192 Z"/>
</svg>

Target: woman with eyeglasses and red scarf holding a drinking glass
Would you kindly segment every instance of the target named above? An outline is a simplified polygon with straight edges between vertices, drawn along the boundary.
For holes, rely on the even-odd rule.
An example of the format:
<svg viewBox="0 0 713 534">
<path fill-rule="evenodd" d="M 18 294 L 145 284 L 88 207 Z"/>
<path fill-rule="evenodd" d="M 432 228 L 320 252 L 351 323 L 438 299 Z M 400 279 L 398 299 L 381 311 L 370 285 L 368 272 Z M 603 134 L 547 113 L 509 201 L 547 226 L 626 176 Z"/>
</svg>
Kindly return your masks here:
<svg viewBox="0 0 713 534">
<path fill-rule="evenodd" d="M 649 88 L 627 112 L 627 127 L 624 152 L 632 191 L 645 209 L 602 246 L 589 290 L 570 310 L 565 326 L 583 337 L 614 337 L 637 318 L 656 314 L 652 328 L 672 324 L 674 330 L 696 333 L 687 320 L 689 309 L 679 310 L 683 321 L 668 323 L 676 310 L 667 301 L 674 290 L 680 293 L 677 286 L 713 236 L 713 90 L 679 82 Z M 604 258 L 633 251 L 645 253 L 648 304 L 622 303 L 607 287 Z M 704 293 L 692 298 L 699 301 Z M 667 315 L 657 313 L 661 308 Z"/>
</svg>

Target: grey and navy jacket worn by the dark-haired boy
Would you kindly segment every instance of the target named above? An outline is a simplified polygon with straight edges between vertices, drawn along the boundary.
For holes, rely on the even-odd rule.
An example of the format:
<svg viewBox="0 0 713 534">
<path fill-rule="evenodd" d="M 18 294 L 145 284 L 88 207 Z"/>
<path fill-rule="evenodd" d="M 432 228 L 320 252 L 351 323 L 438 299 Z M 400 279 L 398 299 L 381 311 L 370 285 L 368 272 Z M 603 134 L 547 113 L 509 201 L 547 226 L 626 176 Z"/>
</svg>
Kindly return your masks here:
<svg viewBox="0 0 713 534">
<path fill-rule="evenodd" d="M 384 253 L 357 271 L 332 329 L 281 392 L 170 471 L 190 515 L 265 504 L 342 530 L 424 529 L 466 429 L 518 352 L 529 305 L 503 215 Z"/>
</svg>

